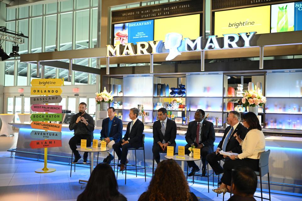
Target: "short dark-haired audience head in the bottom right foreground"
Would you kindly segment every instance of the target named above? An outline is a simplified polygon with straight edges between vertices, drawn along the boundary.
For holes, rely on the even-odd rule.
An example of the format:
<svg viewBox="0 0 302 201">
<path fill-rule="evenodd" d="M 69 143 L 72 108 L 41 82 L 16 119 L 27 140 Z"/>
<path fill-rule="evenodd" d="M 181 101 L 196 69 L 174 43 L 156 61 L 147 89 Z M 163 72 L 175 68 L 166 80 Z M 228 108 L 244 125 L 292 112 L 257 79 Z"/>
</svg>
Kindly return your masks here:
<svg viewBox="0 0 302 201">
<path fill-rule="evenodd" d="M 232 192 L 242 197 L 253 197 L 257 188 L 257 176 L 247 166 L 237 166 L 232 171 Z"/>
</svg>

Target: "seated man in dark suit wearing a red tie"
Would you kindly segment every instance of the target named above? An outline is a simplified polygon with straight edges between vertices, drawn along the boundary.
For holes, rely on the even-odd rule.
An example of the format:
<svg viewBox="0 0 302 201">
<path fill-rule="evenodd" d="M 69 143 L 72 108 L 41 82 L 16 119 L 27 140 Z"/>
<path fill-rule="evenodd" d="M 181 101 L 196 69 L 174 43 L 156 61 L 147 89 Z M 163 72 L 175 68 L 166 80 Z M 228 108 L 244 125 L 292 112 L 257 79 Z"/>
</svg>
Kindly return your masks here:
<svg viewBox="0 0 302 201">
<path fill-rule="evenodd" d="M 188 125 L 186 133 L 187 145 L 185 146 L 185 153 L 189 154 L 189 148 L 195 145 L 195 148 L 200 149 L 201 162 L 202 162 L 202 176 L 207 175 L 207 161 L 206 155 L 214 151 L 215 130 L 212 122 L 204 119 L 204 111 L 198 109 L 195 112 L 195 121 Z M 199 171 L 199 167 L 194 161 L 187 161 L 188 166 L 192 167 L 189 177 L 193 176 L 195 172 Z"/>
</svg>

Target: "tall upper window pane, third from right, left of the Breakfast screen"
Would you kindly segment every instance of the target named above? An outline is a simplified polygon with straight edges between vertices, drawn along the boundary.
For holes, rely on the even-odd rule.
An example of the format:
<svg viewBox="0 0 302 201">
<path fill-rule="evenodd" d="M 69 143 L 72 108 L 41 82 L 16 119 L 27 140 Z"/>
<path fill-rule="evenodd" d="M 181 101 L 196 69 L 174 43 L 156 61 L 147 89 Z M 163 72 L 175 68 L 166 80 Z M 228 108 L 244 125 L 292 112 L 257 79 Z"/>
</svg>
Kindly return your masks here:
<svg viewBox="0 0 302 201">
<path fill-rule="evenodd" d="M 63 3 L 63 2 L 62 2 Z M 72 49 L 72 13 L 61 14 L 60 51 Z"/>
</svg>

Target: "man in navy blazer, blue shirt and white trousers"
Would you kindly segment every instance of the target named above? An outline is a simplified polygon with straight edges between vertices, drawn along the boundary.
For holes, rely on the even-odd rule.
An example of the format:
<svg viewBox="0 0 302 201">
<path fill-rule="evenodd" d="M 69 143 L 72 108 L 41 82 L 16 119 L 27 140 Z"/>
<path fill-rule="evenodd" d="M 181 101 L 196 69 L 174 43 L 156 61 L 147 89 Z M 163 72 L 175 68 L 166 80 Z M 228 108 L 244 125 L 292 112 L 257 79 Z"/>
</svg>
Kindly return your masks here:
<svg viewBox="0 0 302 201">
<path fill-rule="evenodd" d="M 108 117 L 102 122 L 101 139 L 98 143 L 101 144 L 102 140 L 106 141 L 109 151 L 107 151 L 108 156 L 103 160 L 103 163 L 110 164 L 114 158 L 111 154 L 113 151 L 112 146 L 122 139 L 123 123 L 122 120 L 115 117 L 114 107 L 109 107 L 107 113 Z"/>
</svg>

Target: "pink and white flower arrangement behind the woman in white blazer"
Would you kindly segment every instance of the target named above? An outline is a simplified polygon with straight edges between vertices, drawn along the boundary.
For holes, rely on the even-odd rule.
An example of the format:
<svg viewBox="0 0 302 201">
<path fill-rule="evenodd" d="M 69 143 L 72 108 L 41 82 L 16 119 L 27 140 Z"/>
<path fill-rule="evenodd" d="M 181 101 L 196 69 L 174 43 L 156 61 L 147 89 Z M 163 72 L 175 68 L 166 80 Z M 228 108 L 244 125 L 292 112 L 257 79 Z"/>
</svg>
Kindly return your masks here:
<svg viewBox="0 0 302 201">
<path fill-rule="evenodd" d="M 259 89 L 245 91 L 241 99 L 243 106 L 262 106 L 266 103 L 266 97 L 262 95 Z"/>
</svg>

